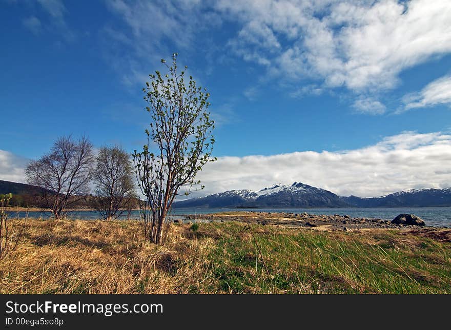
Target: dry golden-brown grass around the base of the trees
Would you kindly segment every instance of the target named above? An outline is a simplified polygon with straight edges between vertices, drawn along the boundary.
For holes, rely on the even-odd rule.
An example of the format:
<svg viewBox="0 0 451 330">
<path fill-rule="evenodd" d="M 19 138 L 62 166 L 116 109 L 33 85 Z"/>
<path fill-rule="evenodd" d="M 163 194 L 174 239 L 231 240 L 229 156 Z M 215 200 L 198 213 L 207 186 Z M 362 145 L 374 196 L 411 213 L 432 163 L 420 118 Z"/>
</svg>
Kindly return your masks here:
<svg viewBox="0 0 451 330">
<path fill-rule="evenodd" d="M 189 293 L 214 281 L 204 267 L 213 241 L 190 239 L 187 226 L 172 228 L 165 246 L 142 241 L 137 221 L 29 219 L 26 226 L 17 249 L 0 259 L 2 294 Z"/>
</svg>

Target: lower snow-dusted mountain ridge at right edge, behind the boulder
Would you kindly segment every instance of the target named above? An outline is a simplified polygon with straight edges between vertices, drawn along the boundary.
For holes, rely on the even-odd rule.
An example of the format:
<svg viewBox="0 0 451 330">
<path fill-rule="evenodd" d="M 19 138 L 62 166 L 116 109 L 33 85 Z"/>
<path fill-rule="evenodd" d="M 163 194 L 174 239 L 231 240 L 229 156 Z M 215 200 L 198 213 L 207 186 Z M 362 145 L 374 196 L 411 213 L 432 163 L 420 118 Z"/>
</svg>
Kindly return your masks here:
<svg viewBox="0 0 451 330">
<path fill-rule="evenodd" d="M 449 207 L 451 206 L 451 188 L 411 189 L 381 197 L 349 196 L 341 197 L 341 199 L 357 208 Z"/>
</svg>

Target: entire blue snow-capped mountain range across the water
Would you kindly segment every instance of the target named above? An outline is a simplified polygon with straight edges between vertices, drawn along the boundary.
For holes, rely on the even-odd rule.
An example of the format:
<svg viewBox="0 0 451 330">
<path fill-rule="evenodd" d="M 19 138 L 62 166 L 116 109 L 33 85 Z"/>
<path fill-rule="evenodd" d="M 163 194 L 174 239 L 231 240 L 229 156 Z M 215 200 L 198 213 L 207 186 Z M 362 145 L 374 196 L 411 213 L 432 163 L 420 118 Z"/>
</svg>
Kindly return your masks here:
<svg viewBox="0 0 451 330">
<path fill-rule="evenodd" d="M 178 208 L 379 208 L 451 207 L 451 188 L 412 189 L 381 197 L 338 196 L 301 182 L 274 184 L 259 191 L 229 190 L 177 201 Z"/>
</svg>

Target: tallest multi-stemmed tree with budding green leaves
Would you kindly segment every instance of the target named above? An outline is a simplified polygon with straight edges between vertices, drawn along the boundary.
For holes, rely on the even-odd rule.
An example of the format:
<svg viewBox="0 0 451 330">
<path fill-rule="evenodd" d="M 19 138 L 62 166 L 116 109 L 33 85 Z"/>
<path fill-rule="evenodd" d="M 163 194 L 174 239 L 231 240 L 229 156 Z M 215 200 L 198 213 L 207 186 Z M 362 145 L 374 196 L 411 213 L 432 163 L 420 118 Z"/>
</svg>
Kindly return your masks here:
<svg viewBox="0 0 451 330">
<path fill-rule="evenodd" d="M 179 190 L 185 187 L 189 194 L 192 185 L 200 183 L 195 181 L 197 172 L 216 160 L 210 159 L 214 143 L 214 122 L 207 111 L 210 94 L 196 87 L 192 76 L 186 85 L 185 71 L 177 71 L 176 60 L 173 54 L 172 66 L 168 66 L 162 59 L 168 74 L 155 71 L 149 75 L 151 83 L 142 89 L 152 122 L 145 131 L 147 145 L 133 154 L 138 186 L 146 197 L 145 235 L 157 244 L 166 239 L 172 220 L 168 214 Z"/>
</svg>

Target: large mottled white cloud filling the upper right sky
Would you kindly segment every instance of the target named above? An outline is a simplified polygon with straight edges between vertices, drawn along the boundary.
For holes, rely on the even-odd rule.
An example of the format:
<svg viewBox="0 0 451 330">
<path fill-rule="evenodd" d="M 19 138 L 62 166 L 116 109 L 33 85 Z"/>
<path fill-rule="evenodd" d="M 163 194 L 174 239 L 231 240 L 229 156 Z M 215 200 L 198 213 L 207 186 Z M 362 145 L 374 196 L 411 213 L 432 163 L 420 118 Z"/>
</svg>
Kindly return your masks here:
<svg viewBox="0 0 451 330">
<path fill-rule="evenodd" d="M 217 8 L 243 24 L 246 43 L 234 50 L 243 58 L 257 52 L 270 74 L 331 88 L 392 89 L 401 71 L 451 52 L 449 0 L 223 0 Z M 266 40 L 246 28 L 251 23 L 271 31 Z"/>
</svg>

